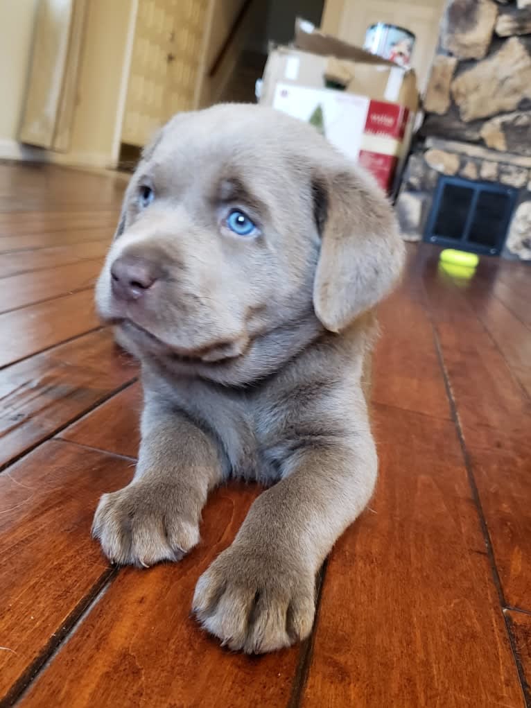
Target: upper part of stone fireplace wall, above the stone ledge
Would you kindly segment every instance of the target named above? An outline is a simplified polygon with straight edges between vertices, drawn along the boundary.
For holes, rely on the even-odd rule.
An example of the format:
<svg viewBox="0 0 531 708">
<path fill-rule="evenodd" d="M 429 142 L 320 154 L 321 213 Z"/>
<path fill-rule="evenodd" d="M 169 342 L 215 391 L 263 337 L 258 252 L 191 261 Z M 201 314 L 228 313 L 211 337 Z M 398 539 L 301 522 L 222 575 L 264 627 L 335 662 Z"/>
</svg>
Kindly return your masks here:
<svg viewBox="0 0 531 708">
<path fill-rule="evenodd" d="M 531 156 L 531 0 L 450 0 L 421 135 Z"/>
</svg>

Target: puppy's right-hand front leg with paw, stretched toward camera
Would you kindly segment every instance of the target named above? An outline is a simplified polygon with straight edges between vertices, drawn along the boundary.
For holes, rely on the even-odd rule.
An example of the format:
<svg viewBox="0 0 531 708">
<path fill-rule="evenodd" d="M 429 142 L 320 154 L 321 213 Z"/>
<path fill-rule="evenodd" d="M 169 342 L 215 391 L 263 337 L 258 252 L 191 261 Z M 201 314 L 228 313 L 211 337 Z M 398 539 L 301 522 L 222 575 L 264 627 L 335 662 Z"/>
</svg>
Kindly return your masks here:
<svg viewBox="0 0 531 708">
<path fill-rule="evenodd" d="M 363 428 L 292 455 L 286 476 L 258 497 L 232 546 L 200 577 L 194 610 L 231 649 L 273 651 L 311 632 L 316 573 L 374 489 L 376 450 L 366 421 Z"/>
</svg>

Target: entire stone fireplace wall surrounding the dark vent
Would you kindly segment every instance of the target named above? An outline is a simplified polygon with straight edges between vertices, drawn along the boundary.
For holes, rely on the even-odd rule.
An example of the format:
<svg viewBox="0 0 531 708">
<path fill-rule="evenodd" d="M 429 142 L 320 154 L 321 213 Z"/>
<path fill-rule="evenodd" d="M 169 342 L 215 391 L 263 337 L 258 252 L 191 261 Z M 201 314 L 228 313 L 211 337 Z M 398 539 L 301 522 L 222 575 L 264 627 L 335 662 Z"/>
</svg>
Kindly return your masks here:
<svg viewBox="0 0 531 708">
<path fill-rule="evenodd" d="M 531 263 L 531 0 L 448 0 L 401 181 L 404 239 L 420 241 L 441 175 L 518 190 L 501 253 Z"/>
</svg>

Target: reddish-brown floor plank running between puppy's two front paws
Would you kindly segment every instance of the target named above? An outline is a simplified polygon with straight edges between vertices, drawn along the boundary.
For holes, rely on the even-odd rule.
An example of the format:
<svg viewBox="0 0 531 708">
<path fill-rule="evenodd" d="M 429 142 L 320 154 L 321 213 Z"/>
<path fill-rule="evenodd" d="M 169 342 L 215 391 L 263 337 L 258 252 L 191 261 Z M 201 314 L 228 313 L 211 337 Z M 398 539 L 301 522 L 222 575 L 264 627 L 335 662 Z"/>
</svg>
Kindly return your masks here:
<svg viewBox="0 0 531 708">
<path fill-rule="evenodd" d="M 219 489 L 203 514 L 202 541 L 183 561 L 120 572 L 19 705 L 287 705 L 298 646 L 259 658 L 224 651 L 189 614 L 200 573 L 232 541 L 257 493 L 243 484 Z"/>
</svg>

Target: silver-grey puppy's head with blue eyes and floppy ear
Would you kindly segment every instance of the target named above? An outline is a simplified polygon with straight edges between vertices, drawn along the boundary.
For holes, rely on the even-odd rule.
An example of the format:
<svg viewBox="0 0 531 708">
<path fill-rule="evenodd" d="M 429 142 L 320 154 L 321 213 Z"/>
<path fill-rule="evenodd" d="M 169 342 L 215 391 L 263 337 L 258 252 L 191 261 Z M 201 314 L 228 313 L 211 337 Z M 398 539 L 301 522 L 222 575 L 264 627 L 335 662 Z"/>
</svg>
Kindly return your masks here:
<svg viewBox="0 0 531 708">
<path fill-rule="evenodd" d="M 245 384 L 370 309 L 402 258 L 384 196 L 313 127 L 219 105 L 144 151 L 96 302 L 141 358 Z"/>
</svg>

